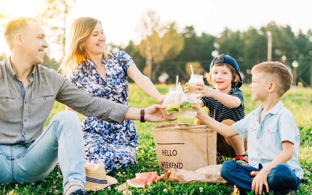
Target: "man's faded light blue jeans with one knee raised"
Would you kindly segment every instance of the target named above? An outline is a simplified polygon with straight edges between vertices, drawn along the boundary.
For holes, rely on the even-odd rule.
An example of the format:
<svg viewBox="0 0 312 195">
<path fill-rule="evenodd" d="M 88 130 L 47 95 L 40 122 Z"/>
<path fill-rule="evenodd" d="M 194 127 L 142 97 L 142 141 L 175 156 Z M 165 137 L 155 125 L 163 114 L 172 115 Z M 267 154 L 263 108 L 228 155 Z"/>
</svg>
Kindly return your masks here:
<svg viewBox="0 0 312 195">
<path fill-rule="evenodd" d="M 0 145 L 0 184 L 39 182 L 59 161 L 64 192 L 72 185 L 85 188 L 84 141 L 78 115 L 56 114 L 29 147 Z"/>
</svg>

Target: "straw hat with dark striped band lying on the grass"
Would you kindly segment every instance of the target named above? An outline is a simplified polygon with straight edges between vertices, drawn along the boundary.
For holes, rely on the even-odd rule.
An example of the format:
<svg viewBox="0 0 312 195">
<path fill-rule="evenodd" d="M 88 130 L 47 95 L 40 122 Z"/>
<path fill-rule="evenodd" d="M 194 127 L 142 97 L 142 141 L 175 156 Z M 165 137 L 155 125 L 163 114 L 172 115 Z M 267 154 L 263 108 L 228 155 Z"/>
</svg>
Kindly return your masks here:
<svg viewBox="0 0 312 195">
<path fill-rule="evenodd" d="M 87 164 L 85 165 L 87 190 L 98 191 L 105 187 L 117 183 L 117 179 L 106 175 L 105 168 L 101 164 Z"/>
</svg>

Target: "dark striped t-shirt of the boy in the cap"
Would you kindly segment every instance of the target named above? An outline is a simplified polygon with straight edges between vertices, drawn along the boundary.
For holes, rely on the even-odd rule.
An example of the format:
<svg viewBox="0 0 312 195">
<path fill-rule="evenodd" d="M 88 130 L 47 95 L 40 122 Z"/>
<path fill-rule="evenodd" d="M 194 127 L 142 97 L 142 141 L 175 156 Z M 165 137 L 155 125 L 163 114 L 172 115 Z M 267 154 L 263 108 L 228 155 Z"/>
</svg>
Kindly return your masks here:
<svg viewBox="0 0 312 195">
<path fill-rule="evenodd" d="M 245 117 L 243 92 L 239 88 L 232 88 L 229 95 L 237 97 L 241 100 L 241 105 L 237 108 L 228 108 L 214 98 L 200 98 L 204 105 L 208 108 L 208 115 L 216 121 L 222 122 L 225 119 L 239 121 Z"/>
</svg>

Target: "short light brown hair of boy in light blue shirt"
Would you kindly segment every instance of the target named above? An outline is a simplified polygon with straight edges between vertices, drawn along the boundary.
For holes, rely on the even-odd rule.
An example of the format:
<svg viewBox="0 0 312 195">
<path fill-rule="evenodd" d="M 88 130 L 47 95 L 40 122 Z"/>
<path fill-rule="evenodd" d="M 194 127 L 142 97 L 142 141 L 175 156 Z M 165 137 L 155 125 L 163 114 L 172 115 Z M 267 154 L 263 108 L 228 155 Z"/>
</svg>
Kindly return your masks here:
<svg viewBox="0 0 312 195">
<path fill-rule="evenodd" d="M 251 69 L 251 74 L 266 73 L 270 75 L 272 81 L 276 84 L 278 95 L 281 97 L 286 93 L 293 82 L 293 74 L 288 66 L 280 62 L 262 62 Z"/>
</svg>

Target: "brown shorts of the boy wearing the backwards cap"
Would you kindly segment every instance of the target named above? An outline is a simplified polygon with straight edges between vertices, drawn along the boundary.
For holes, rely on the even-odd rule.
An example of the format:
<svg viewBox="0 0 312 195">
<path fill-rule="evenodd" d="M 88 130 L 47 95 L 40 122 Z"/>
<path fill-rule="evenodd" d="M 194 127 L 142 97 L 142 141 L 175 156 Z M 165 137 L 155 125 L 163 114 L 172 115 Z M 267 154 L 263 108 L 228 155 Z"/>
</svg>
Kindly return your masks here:
<svg viewBox="0 0 312 195">
<path fill-rule="evenodd" d="M 222 123 L 231 126 L 233 123 L 235 123 L 233 120 L 226 119 L 222 121 Z M 201 120 L 196 119 L 194 121 L 194 124 L 196 125 L 205 125 Z M 244 148 L 245 151 L 247 151 L 247 138 L 244 138 Z M 230 146 L 227 141 L 225 140 L 225 137 L 219 133 L 217 133 L 217 153 L 220 153 L 221 155 L 224 155 L 226 157 L 235 157 L 236 153 L 234 148 Z"/>
</svg>

